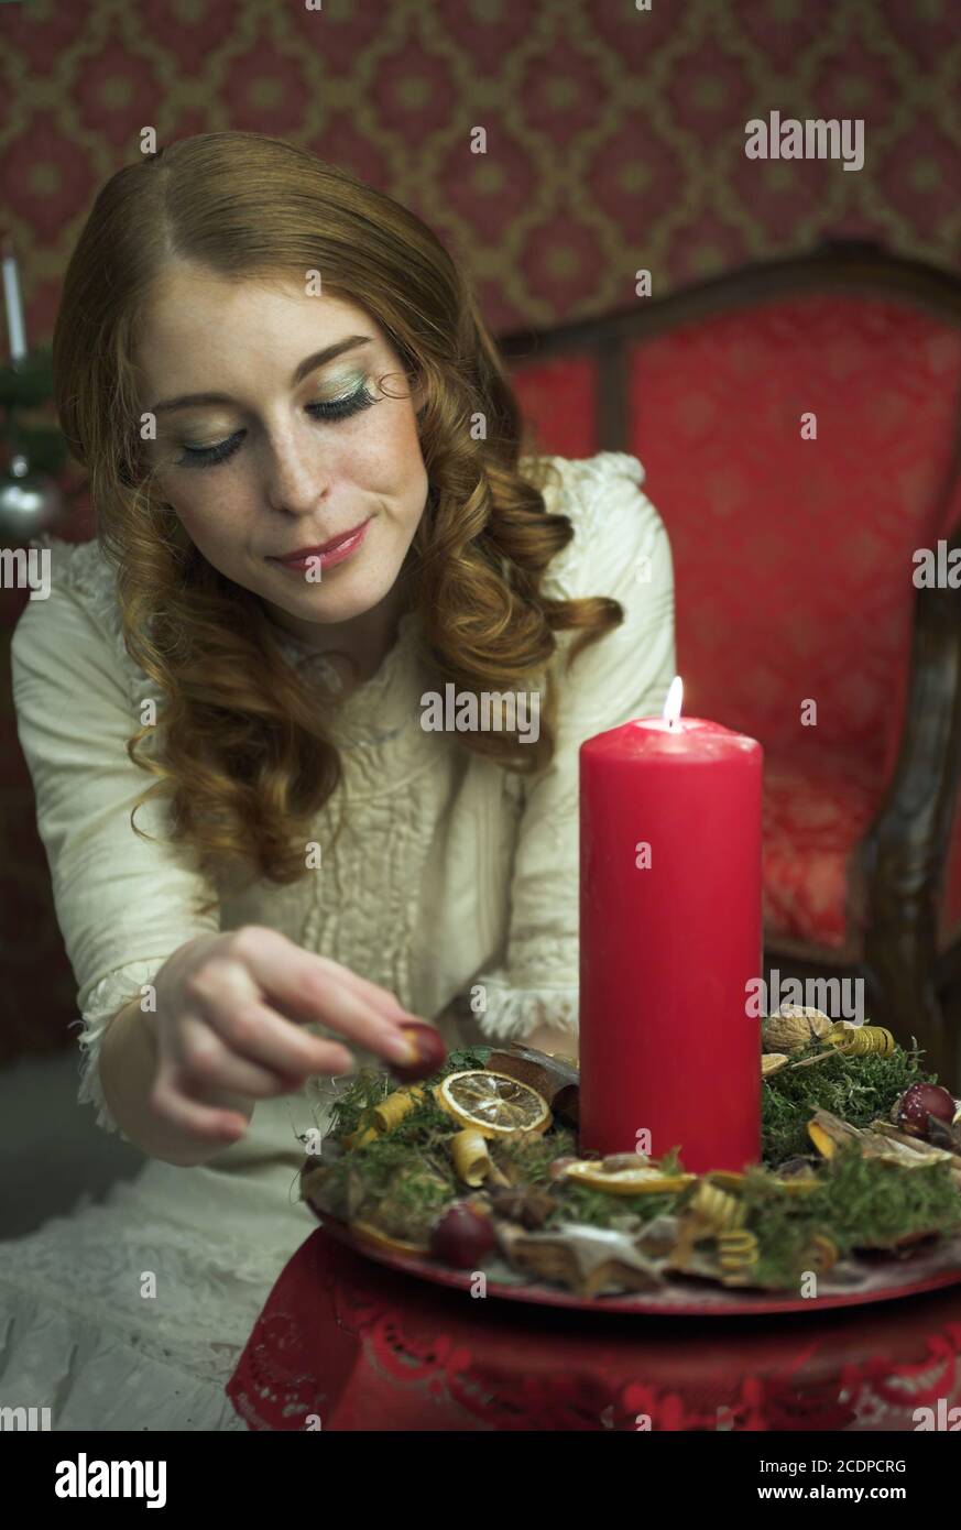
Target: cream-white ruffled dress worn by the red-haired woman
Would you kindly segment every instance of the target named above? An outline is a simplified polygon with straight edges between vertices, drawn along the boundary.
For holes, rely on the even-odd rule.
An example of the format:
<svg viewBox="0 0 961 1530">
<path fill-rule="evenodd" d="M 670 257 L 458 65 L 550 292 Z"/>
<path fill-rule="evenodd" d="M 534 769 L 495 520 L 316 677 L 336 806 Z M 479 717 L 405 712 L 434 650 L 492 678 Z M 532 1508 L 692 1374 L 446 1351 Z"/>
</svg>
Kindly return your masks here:
<svg viewBox="0 0 961 1530">
<path fill-rule="evenodd" d="M 675 667 L 673 575 L 635 457 L 552 462 L 545 500 L 575 537 L 545 592 L 612 595 L 626 615 L 565 681 L 551 768 L 526 783 L 468 754 L 458 734 L 421 727 L 421 698 L 441 687 L 409 614 L 376 675 L 335 708 L 344 780 L 314 829 L 321 866 L 291 887 L 259 883 L 207 920 L 193 912 L 196 874 L 129 825 L 147 777 L 124 742 L 151 682 L 122 644 L 110 568 L 96 543 L 50 543 L 50 595 L 28 604 L 14 635 L 14 701 L 78 982 L 80 1099 L 103 1128 L 116 1129 L 98 1077 L 106 1022 L 205 930 L 279 929 L 396 993 L 448 1043 L 542 1024 L 575 1031 L 577 750 L 661 710 Z M 562 653 L 569 641 L 560 635 Z M 286 652 L 317 662 L 295 640 Z M 159 809 L 141 809 L 138 823 L 164 829 Z M 473 1019 L 477 984 L 487 1008 Z M 0 1242 L 3 1400 L 50 1408 L 55 1429 L 243 1429 L 223 1386 L 315 1226 L 294 1183 L 295 1134 L 315 1123 L 323 1111 L 309 1089 L 260 1102 L 246 1137 L 213 1161 L 145 1160 L 103 1204 L 84 1198 Z"/>
</svg>

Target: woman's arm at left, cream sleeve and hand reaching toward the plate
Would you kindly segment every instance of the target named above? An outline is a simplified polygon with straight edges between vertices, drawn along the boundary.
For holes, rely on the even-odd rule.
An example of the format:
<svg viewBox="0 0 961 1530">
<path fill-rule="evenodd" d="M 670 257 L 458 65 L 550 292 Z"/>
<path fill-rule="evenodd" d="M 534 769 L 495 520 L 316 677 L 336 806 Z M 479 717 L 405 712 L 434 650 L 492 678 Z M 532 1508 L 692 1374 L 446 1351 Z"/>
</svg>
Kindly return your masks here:
<svg viewBox="0 0 961 1530">
<path fill-rule="evenodd" d="M 132 678 L 109 601 L 89 604 L 89 545 L 54 546 L 50 595 L 26 607 L 11 649 L 20 744 L 78 982 L 80 1099 L 145 1152 L 200 1163 L 246 1131 L 256 1100 L 347 1071 L 344 1040 L 410 1063 L 406 1011 L 277 930 L 222 932 L 216 889 L 168 842 L 165 802 L 142 805 L 151 837 L 135 834 L 130 809 L 148 777 L 125 742 L 148 682 Z M 141 1008 L 147 988 L 156 1010 Z"/>
</svg>

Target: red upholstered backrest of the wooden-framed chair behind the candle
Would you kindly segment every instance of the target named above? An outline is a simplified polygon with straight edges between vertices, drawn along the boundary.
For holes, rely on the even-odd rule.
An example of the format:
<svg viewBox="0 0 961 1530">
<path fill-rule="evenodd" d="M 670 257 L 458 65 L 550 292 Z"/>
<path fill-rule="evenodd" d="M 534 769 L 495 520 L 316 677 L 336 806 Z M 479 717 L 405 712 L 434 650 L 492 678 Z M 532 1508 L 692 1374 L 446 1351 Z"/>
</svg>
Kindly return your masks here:
<svg viewBox="0 0 961 1530">
<path fill-rule="evenodd" d="M 652 308 L 650 324 L 632 312 L 572 326 L 577 407 L 591 412 L 575 433 L 585 454 L 623 450 L 646 467 L 675 560 L 686 711 L 774 751 L 854 751 L 880 791 L 906 696 L 912 554 L 961 522 L 961 493 L 946 494 L 961 301 L 940 314 L 883 282 L 811 291 L 810 274 L 806 291 L 785 275 L 754 300 L 715 283 L 696 317 L 679 297 L 667 317 Z M 565 337 L 545 340 L 517 347 L 513 381 L 542 448 L 575 456 L 557 373 Z M 542 349 L 554 367 L 546 399 L 531 386 Z M 586 405 L 585 353 L 598 361 Z M 614 415 L 604 367 L 623 395 Z M 802 438 L 805 415 L 816 439 Z M 806 699 L 814 728 L 802 725 Z"/>
</svg>

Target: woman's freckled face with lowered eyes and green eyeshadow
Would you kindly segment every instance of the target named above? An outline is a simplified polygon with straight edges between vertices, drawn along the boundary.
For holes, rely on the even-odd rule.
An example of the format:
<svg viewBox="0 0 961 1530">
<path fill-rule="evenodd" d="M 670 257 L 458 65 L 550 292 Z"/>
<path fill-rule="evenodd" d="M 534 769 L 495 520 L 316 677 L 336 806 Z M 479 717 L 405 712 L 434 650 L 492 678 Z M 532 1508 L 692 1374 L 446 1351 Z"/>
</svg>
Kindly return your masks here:
<svg viewBox="0 0 961 1530">
<path fill-rule="evenodd" d="M 428 483 L 418 398 L 363 309 L 178 262 L 147 303 L 135 364 L 159 497 L 208 563 L 308 636 L 390 603 Z M 340 555 L 277 562 L 357 528 Z"/>
</svg>

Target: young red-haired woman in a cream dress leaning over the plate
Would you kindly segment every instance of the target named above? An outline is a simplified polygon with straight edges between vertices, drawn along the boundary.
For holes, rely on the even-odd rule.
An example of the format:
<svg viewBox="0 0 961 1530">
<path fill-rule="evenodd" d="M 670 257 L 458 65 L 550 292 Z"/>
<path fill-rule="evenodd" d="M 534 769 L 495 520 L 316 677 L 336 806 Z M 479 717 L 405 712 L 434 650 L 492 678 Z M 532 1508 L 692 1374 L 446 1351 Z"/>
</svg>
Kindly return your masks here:
<svg viewBox="0 0 961 1530">
<path fill-rule="evenodd" d="M 54 363 L 98 536 L 52 542 L 14 696 L 81 1099 L 150 1161 L 0 1245 L 5 1397 L 243 1427 L 329 1080 L 410 1014 L 577 1050 L 577 750 L 663 705 L 670 551 L 634 457 L 522 454 L 430 230 L 274 139 L 107 182 Z M 448 693 L 528 705 L 438 730 Z"/>
</svg>

